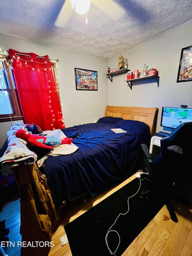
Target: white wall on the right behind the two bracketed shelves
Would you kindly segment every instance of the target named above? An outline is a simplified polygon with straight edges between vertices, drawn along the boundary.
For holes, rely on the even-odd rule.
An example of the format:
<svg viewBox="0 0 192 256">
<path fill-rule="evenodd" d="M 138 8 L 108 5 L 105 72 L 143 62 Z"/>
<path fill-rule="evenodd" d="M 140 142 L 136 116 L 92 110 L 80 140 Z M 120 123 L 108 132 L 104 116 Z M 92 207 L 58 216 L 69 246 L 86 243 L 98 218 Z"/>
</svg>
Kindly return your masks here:
<svg viewBox="0 0 192 256">
<path fill-rule="evenodd" d="M 192 45 L 192 21 L 176 27 L 156 38 L 122 53 L 128 58 L 128 69 L 139 69 L 143 73 L 144 64 L 158 70 L 159 88 L 156 80 L 133 83 L 132 90 L 125 80 L 127 74 L 108 80 L 108 105 L 158 107 L 156 131 L 162 130 L 162 107 L 192 107 L 192 81 L 176 83 L 181 50 Z M 110 68 L 118 67 L 119 55 L 109 59 Z"/>
</svg>

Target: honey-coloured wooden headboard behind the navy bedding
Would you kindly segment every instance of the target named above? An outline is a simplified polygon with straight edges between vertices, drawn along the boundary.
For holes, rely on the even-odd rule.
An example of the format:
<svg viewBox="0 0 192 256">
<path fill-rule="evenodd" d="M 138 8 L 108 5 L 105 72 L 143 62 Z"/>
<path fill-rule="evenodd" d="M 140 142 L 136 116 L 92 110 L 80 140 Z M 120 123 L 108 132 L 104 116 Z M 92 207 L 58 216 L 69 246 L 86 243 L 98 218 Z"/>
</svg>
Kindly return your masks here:
<svg viewBox="0 0 192 256">
<path fill-rule="evenodd" d="M 118 107 L 106 106 L 105 116 L 121 117 L 128 120 L 141 121 L 149 125 L 151 135 L 153 136 L 157 107 Z"/>
</svg>

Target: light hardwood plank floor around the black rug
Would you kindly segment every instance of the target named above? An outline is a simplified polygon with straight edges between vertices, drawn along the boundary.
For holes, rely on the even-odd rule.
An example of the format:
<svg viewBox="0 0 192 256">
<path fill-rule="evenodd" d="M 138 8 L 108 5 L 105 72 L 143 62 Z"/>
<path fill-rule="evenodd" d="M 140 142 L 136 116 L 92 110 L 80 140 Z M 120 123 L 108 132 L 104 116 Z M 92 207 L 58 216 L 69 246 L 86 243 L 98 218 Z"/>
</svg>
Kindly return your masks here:
<svg viewBox="0 0 192 256">
<path fill-rule="evenodd" d="M 64 206 L 60 209 L 60 225 L 52 236 L 54 247 L 50 249 L 48 256 L 71 256 L 69 244 L 61 246 L 60 237 L 65 235 L 64 225 L 104 200 L 134 178 L 135 175 L 105 193 L 97 194 L 95 197 L 87 199 L 86 202 L 80 197 L 73 201 L 71 206 Z M 182 191 L 192 201 L 191 184 L 183 185 Z M 176 201 L 171 201 L 171 203 L 179 221 L 177 223 L 173 222 L 170 219 L 167 207 L 164 206 L 122 256 L 192 256 L 192 205 L 185 207 Z M 0 213 L 1 220 L 5 218 L 6 226 L 10 229 L 9 241 L 21 241 L 19 233 L 19 207 L 20 199 L 7 201 Z M 20 255 L 19 248 L 16 247 L 7 248 L 6 252 L 8 256 Z"/>
</svg>

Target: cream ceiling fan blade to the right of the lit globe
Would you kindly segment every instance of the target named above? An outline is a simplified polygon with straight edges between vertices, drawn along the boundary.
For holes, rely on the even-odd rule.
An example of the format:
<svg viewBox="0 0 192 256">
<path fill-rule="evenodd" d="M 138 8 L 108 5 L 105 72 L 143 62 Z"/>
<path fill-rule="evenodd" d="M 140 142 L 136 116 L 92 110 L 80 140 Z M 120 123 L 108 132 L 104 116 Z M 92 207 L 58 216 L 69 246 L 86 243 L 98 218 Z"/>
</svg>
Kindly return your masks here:
<svg viewBox="0 0 192 256">
<path fill-rule="evenodd" d="M 91 0 L 91 2 L 114 21 L 119 20 L 125 14 L 125 9 L 113 0 Z"/>
</svg>

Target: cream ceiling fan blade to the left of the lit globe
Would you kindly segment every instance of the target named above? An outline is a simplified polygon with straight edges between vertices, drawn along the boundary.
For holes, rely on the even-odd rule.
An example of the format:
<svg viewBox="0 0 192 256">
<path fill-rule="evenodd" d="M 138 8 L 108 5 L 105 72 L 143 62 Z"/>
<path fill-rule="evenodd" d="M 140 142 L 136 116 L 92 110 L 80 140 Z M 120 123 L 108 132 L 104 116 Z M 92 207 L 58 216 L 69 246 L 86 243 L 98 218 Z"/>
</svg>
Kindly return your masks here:
<svg viewBox="0 0 192 256">
<path fill-rule="evenodd" d="M 73 13 L 73 8 L 70 0 L 65 0 L 54 25 L 63 28 Z"/>
</svg>

